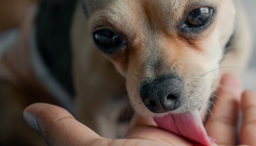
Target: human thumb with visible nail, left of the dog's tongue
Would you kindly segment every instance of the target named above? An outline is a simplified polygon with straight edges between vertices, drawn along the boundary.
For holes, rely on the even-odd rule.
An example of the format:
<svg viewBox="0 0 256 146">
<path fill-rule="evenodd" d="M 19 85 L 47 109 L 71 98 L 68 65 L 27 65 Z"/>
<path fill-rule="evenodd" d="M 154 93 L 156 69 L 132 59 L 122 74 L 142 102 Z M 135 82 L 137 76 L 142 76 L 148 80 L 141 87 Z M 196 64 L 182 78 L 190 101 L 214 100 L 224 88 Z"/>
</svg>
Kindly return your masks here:
<svg viewBox="0 0 256 146">
<path fill-rule="evenodd" d="M 48 146 L 80 146 L 98 134 L 84 126 L 65 109 L 49 104 L 33 104 L 24 110 L 27 123 L 40 130 Z"/>
</svg>

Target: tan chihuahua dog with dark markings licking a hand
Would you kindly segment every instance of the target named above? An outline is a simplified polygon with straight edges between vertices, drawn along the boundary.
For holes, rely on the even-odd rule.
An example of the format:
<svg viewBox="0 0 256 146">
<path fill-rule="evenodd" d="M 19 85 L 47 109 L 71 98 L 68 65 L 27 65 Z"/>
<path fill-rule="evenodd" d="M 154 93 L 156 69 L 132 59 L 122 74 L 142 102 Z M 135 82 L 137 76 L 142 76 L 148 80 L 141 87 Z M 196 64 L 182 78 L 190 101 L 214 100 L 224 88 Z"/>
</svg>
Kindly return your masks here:
<svg viewBox="0 0 256 146">
<path fill-rule="evenodd" d="M 22 121 L 23 108 L 43 101 L 113 138 L 126 106 L 144 116 L 203 117 L 221 76 L 240 74 L 250 54 L 239 0 L 53 3 L 39 4 L 24 23 L 22 47 L 1 59 L 2 104 L 16 109 L 1 118 Z"/>
</svg>

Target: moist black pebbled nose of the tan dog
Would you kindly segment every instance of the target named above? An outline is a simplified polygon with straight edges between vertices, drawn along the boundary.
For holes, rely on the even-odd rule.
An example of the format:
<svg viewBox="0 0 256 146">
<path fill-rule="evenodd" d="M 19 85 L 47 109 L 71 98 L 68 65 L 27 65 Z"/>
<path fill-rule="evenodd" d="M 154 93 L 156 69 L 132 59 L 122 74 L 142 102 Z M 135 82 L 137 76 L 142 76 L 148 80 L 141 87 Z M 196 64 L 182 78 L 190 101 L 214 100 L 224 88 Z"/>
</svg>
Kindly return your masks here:
<svg viewBox="0 0 256 146">
<path fill-rule="evenodd" d="M 158 78 L 142 84 L 140 96 L 145 106 L 154 113 L 175 110 L 180 106 L 183 82 L 177 77 Z"/>
</svg>

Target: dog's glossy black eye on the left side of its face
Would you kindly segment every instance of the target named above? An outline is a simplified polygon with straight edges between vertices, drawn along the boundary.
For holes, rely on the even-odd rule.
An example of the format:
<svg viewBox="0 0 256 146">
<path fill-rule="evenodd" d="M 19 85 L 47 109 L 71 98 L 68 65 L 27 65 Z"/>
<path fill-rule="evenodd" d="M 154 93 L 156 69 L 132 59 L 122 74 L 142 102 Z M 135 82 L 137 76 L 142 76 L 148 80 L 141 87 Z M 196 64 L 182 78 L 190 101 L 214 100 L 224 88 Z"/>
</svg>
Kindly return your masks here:
<svg viewBox="0 0 256 146">
<path fill-rule="evenodd" d="M 97 30 L 93 34 L 95 44 L 105 53 L 113 53 L 124 40 L 110 30 Z"/>
</svg>

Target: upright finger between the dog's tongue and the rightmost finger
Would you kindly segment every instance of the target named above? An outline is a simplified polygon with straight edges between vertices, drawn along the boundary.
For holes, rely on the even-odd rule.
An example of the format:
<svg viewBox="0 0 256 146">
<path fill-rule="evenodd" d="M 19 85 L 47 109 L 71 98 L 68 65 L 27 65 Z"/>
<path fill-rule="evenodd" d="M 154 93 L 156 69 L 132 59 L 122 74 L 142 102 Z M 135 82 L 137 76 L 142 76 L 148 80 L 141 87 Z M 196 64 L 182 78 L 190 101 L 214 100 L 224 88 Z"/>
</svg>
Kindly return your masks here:
<svg viewBox="0 0 256 146">
<path fill-rule="evenodd" d="M 235 145 L 241 81 L 235 75 L 226 75 L 221 84 L 225 88 L 218 89 L 216 107 L 213 107 L 213 116 L 207 121 L 205 129 L 209 136 L 216 139 L 217 144 Z"/>
</svg>

